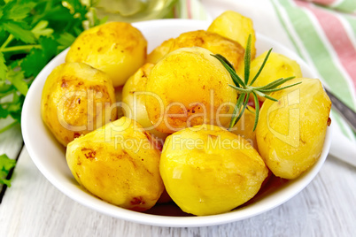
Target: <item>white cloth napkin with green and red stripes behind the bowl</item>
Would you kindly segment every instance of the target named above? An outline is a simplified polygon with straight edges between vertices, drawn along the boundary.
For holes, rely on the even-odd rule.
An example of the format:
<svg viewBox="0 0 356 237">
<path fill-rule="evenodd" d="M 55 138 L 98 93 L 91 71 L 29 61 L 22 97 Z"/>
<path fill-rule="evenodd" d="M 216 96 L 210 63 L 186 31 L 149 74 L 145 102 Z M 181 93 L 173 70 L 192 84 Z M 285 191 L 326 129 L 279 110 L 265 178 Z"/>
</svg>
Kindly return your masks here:
<svg viewBox="0 0 356 237">
<path fill-rule="evenodd" d="M 356 0 L 179 0 L 175 18 L 213 20 L 237 11 L 254 28 L 294 50 L 327 88 L 356 111 Z M 330 154 L 356 160 L 356 134 L 337 112 Z"/>
</svg>

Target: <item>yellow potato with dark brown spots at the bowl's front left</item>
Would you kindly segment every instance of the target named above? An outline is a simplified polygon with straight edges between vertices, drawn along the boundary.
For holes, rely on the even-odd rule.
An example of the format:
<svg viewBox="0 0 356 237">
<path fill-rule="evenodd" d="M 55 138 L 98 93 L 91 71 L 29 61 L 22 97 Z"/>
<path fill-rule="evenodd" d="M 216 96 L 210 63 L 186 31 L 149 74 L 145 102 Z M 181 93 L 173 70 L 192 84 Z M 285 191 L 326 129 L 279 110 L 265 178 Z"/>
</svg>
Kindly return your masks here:
<svg viewBox="0 0 356 237">
<path fill-rule="evenodd" d="M 150 209 L 164 190 L 160 150 L 134 120 L 122 117 L 68 144 L 66 161 L 82 187 L 129 210 Z"/>
</svg>

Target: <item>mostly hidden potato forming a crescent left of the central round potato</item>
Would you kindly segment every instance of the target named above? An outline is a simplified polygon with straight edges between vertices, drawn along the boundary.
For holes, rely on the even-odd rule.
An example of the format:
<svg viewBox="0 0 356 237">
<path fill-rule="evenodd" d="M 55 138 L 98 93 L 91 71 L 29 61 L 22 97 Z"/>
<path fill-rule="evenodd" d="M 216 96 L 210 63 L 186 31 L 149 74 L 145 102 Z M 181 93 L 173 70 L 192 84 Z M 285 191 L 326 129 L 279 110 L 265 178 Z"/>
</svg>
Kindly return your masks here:
<svg viewBox="0 0 356 237">
<path fill-rule="evenodd" d="M 135 119 L 146 131 L 163 141 L 168 134 L 160 133 L 152 126 L 146 111 L 144 92 L 146 91 L 147 76 L 151 73 L 153 66 L 152 64 L 143 65 L 125 83 L 122 91 L 122 103 L 125 104 L 123 113 L 129 119 Z"/>
</svg>

